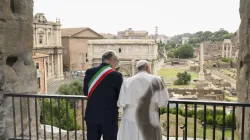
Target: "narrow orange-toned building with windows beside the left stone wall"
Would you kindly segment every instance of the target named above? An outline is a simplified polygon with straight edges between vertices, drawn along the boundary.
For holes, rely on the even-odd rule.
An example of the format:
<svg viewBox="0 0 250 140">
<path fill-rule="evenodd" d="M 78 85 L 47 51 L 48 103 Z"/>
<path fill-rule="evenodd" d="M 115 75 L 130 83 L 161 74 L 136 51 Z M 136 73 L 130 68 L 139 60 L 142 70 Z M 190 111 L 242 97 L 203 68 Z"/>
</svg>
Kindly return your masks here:
<svg viewBox="0 0 250 140">
<path fill-rule="evenodd" d="M 49 55 L 33 53 L 32 59 L 37 69 L 37 92 L 47 94 L 47 59 Z"/>
</svg>

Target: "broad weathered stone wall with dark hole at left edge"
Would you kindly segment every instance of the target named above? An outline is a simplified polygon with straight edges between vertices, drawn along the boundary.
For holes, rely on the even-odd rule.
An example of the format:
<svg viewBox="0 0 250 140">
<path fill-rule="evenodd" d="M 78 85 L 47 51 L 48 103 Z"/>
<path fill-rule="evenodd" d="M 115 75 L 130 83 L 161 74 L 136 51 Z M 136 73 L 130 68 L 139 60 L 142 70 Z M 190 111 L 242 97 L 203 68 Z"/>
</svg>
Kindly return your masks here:
<svg viewBox="0 0 250 140">
<path fill-rule="evenodd" d="M 0 0 L 0 139 L 13 137 L 13 110 L 6 93 L 35 93 L 36 71 L 32 62 L 33 0 Z M 20 102 L 15 99 L 17 136 L 21 135 Z M 35 119 L 30 100 L 31 125 Z M 27 100 L 22 102 L 23 130 L 28 125 Z"/>
</svg>

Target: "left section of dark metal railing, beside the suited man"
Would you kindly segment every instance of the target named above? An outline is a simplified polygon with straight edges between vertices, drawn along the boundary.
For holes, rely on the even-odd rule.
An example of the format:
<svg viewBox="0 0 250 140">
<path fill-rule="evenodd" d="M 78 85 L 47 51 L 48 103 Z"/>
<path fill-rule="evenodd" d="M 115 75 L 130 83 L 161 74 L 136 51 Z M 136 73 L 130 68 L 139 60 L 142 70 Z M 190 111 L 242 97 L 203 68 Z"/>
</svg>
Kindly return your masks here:
<svg viewBox="0 0 250 140">
<path fill-rule="evenodd" d="M 70 139 L 70 135 L 69 135 L 69 126 L 71 124 L 69 124 L 69 110 L 70 110 L 70 107 L 72 107 L 72 109 L 74 110 L 73 111 L 73 119 L 74 119 L 74 137 L 75 137 L 75 140 L 78 139 L 77 136 L 77 109 L 81 109 L 81 119 L 82 119 L 82 139 L 84 140 L 85 139 L 85 133 L 84 133 L 84 130 L 85 130 L 85 126 L 84 126 L 84 100 L 87 100 L 87 97 L 86 96 L 78 96 L 78 95 L 44 95 L 44 94 L 15 94 L 15 93 L 12 93 L 12 94 L 5 94 L 5 96 L 7 98 L 11 98 L 11 102 L 12 102 L 12 110 L 13 110 L 13 137 L 9 138 L 9 139 L 41 139 L 40 136 L 41 136 L 41 131 L 40 130 L 40 126 L 39 126 L 39 123 L 40 121 L 43 122 L 43 137 L 42 139 L 45 139 L 47 138 L 47 134 L 46 134 L 46 121 L 45 121 L 45 100 L 48 99 L 49 103 L 50 103 L 50 110 L 49 110 L 49 114 L 50 114 L 50 118 L 48 118 L 50 120 L 50 124 L 47 124 L 47 125 L 50 125 L 51 126 L 51 135 L 50 135 L 50 138 L 49 139 L 62 139 L 62 128 L 61 128 L 61 118 L 62 118 L 62 115 L 65 115 L 66 117 L 66 137 L 67 139 Z M 17 100 L 19 103 L 17 103 Z M 55 113 L 55 112 L 52 112 L 52 108 L 53 108 L 53 105 L 52 105 L 52 100 L 54 100 L 56 103 L 57 103 L 57 121 L 58 122 L 53 122 L 53 116 L 52 114 Z M 65 101 L 66 102 L 66 114 L 62 114 L 61 113 L 61 109 L 62 109 L 62 101 Z M 33 104 L 31 104 L 31 102 L 33 102 Z M 77 106 L 76 103 L 79 103 L 80 102 L 80 106 Z M 25 105 L 24 105 L 25 104 Z M 38 106 L 41 106 L 40 110 L 41 110 L 41 113 L 42 115 L 39 116 L 39 110 L 38 110 Z M 17 107 L 17 105 L 19 105 L 19 107 Z M 26 111 L 24 112 L 24 107 L 27 107 Z M 17 134 L 17 108 L 20 109 L 19 111 L 19 115 L 18 116 L 19 120 L 20 120 L 20 124 L 21 124 L 21 132 L 19 134 Z M 35 112 L 35 126 L 31 125 L 32 123 L 32 120 L 31 120 L 31 108 L 34 108 L 34 112 Z M 79 110 L 78 110 L 79 111 Z M 26 128 L 25 128 L 25 125 L 24 125 L 24 120 L 25 118 L 23 116 L 27 116 L 27 123 L 25 124 L 26 125 Z M 39 119 L 40 118 L 40 119 Z M 40 121 L 39 121 L 40 120 Z M 59 128 L 59 135 L 57 138 L 54 137 L 54 132 L 53 132 L 53 129 L 54 129 L 54 124 L 57 124 L 58 125 L 58 128 Z M 35 127 L 35 128 L 34 128 Z M 25 134 L 25 130 L 24 129 L 27 129 L 28 132 Z M 32 130 L 35 130 L 35 134 L 32 134 Z M 72 139 L 72 138 L 71 138 Z"/>
</svg>

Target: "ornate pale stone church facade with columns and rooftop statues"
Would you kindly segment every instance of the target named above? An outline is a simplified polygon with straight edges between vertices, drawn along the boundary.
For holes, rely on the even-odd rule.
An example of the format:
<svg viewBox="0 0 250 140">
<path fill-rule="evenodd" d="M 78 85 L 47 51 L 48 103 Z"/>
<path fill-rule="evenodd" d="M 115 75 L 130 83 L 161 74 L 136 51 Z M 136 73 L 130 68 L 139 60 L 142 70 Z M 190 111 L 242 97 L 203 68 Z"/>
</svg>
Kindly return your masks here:
<svg viewBox="0 0 250 140">
<path fill-rule="evenodd" d="M 43 13 L 37 13 L 33 20 L 33 35 L 33 52 L 48 55 L 46 63 L 48 80 L 64 79 L 60 21 L 47 21 Z"/>
</svg>

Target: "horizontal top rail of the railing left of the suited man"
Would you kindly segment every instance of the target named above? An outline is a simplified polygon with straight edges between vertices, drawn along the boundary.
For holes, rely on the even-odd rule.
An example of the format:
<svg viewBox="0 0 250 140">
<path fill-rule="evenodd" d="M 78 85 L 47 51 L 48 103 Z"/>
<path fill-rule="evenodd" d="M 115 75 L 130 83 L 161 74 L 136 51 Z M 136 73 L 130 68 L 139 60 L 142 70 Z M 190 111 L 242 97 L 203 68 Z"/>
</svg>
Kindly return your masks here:
<svg viewBox="0 0 250 140">
<path fill-rule="evenodd" d="M 37 97 L 37 98 L 54 98 L 54 99 L 83 99 L 87 100 L 87 96 L 82 95 L 58 95 L 58 94 L 27 94 L 27 93 L 7 93 L 6 97 Z"/>
</svg>

